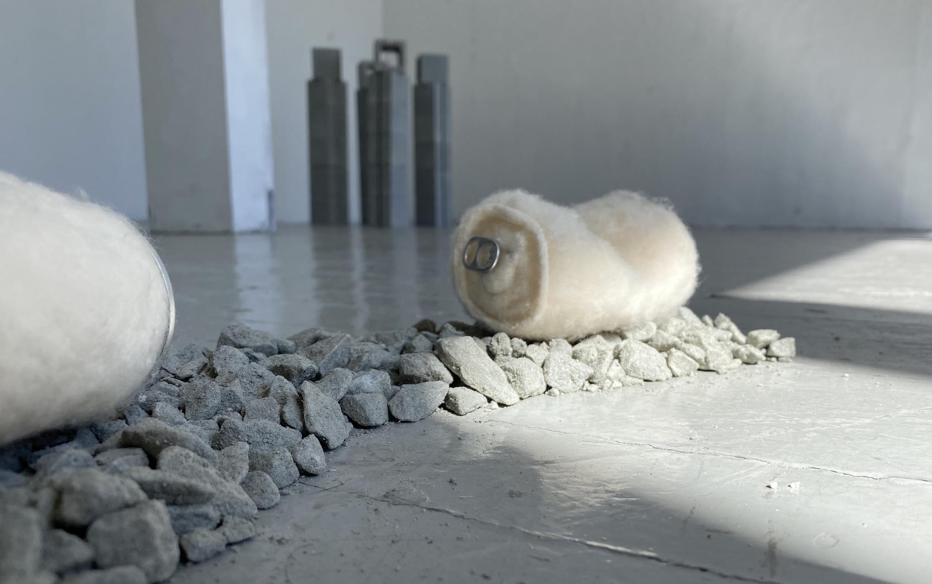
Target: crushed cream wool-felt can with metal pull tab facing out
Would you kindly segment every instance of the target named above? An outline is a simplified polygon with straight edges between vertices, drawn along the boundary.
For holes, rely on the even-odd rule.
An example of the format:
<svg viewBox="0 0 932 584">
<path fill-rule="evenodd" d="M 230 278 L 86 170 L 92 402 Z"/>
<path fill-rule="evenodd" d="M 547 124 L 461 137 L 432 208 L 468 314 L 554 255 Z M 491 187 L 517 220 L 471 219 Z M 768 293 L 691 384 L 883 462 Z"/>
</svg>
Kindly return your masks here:
<svg viewBox="0 0 932 584">
<path fill-rule="evenodd" d="M 485 273 L 464 265 L 473 237 L 499 245 L 498 263 Z M 528 340 L 663 319 L 689 300 L 699 274 L 695 241 L 677 214 L 626 191 L 569 208 L 521 190 L 496 193 L 466 211 L 452 244 L 454 287 L 466 310 Z"/>
</svg>

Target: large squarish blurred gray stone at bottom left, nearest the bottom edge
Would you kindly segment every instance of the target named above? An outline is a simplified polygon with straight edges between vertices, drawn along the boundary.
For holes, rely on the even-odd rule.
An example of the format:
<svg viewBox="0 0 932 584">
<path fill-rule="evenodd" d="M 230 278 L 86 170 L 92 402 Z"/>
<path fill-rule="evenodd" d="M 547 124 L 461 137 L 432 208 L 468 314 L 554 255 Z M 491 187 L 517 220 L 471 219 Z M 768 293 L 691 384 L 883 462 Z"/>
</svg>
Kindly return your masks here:
<svg viewBox="0 0 932 584">
<path fill-rule="evenodd" d="M 178 536 L 161 501 L 107 513 L 90 524 L 88 543 L 98 566 L 135 565 L 150 582 L 170 577 L 178 565 Z"/>
</svg>

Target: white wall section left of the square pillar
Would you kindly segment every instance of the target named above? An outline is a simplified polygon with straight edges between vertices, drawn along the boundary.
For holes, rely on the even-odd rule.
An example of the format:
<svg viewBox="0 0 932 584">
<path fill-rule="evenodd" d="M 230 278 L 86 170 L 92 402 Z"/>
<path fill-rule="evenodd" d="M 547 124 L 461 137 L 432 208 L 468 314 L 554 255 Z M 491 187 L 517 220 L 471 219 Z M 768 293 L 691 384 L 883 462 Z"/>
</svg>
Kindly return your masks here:
<svg viewBox="0 0 932 584">
<path fill-rule="evenodd" d="M 0 0 L 0 169 L 145 220 L 132 2 Z"/>
</svg>

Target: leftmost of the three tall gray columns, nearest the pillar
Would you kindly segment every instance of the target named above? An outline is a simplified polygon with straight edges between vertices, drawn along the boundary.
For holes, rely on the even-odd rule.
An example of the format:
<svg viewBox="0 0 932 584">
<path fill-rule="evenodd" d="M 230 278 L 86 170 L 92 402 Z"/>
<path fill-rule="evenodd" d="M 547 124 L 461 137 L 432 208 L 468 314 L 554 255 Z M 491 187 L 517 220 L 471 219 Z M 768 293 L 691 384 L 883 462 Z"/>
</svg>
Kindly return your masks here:
<svg viewBox="0 0 932 584">
<path fill-rule="evenodd" d="M 347 224 L 347 86 L 340 78 L 340 51 L 315 48 L 308 81 L 310 221 Z"/>
</svg>

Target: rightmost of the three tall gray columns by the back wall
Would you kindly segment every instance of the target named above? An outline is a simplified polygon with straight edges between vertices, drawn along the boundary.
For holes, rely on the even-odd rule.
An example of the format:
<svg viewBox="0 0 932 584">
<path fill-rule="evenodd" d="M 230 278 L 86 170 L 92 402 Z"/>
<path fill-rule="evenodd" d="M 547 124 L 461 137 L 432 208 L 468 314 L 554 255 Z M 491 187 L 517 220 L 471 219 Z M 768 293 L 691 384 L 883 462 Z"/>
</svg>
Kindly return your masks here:
<svg viewBox="0 0 932 584">
<path fill-rule="evenodd" d="M 415 204 L 418 225 L 450 224 L 450 89 L 445 55 L 418 57 L 414 88 Z"/>
</svg>

